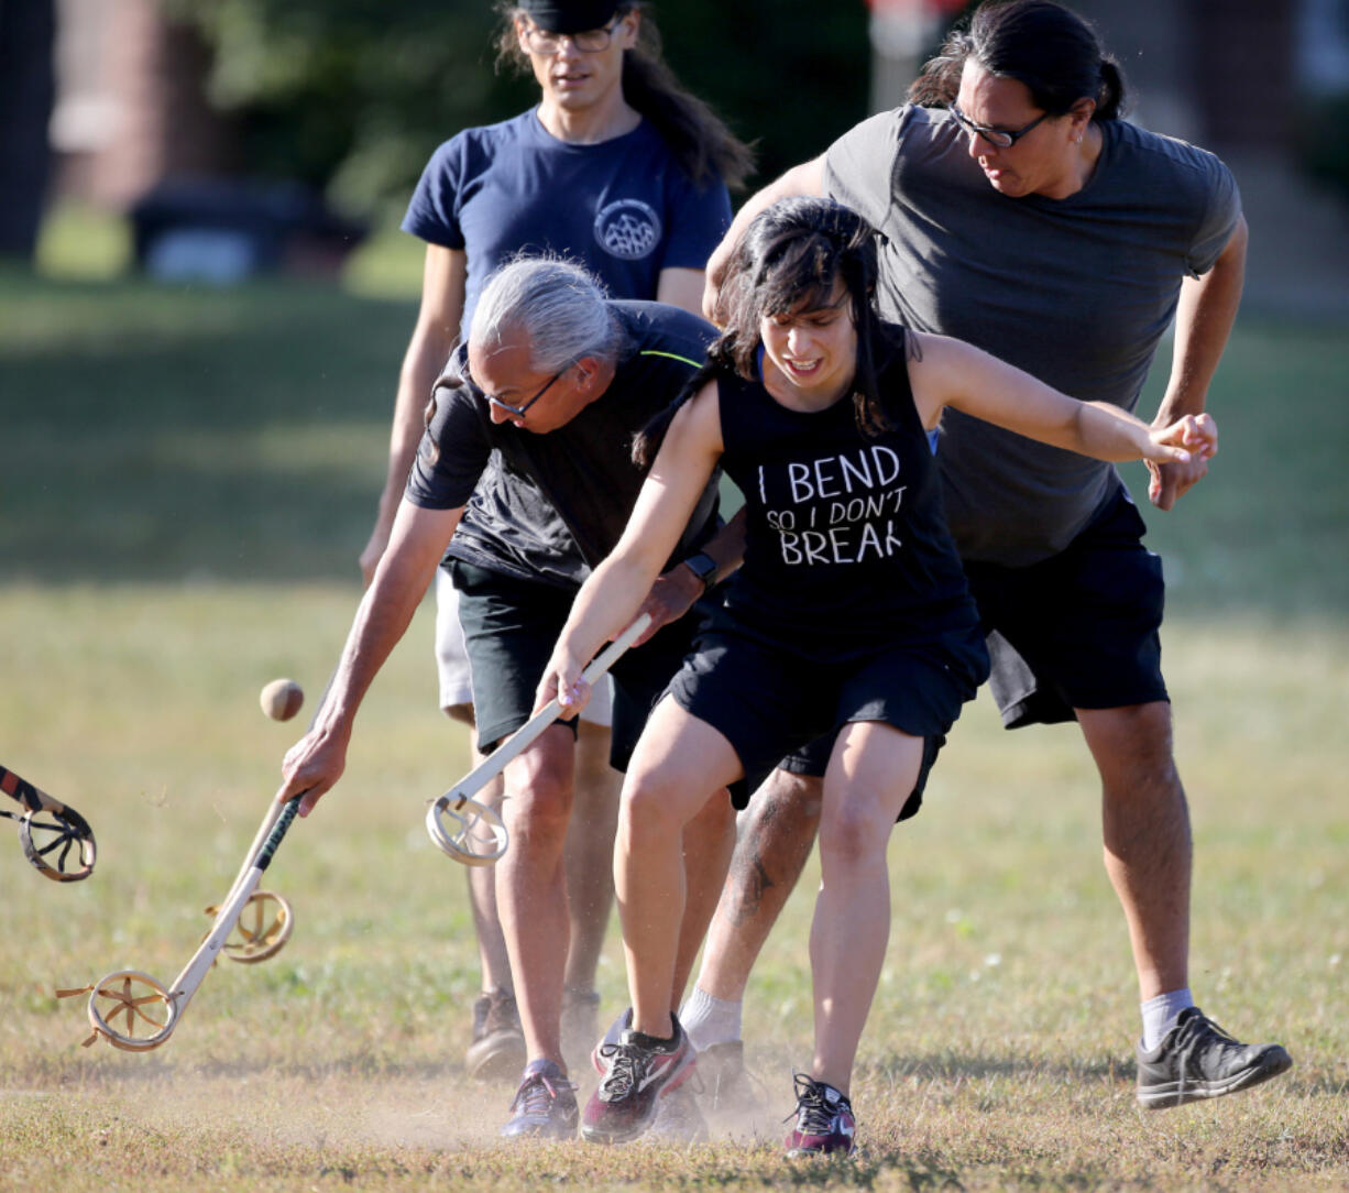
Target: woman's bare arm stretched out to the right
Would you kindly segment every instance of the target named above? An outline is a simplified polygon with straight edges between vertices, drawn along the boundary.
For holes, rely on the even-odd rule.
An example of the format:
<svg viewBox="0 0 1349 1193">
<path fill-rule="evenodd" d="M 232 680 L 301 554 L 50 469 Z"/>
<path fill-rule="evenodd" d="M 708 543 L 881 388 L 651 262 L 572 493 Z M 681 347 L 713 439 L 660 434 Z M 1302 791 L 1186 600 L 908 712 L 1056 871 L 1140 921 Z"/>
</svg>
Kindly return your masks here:
<svg viewBox="0 0 1349 1193">
<path fill-rule="evenodd" d="M 973 344 L 915 333 L 921 359 L 909 362 L 913 401 L 924 426 L 954 406 L 1017 435 L 1098 460 L 1179 460 L 1217 451 L 1218 429 L 1207 414 L 1183 416 L 1149 428 L 1109 402 L 1079 402 Z"/>
</svg>

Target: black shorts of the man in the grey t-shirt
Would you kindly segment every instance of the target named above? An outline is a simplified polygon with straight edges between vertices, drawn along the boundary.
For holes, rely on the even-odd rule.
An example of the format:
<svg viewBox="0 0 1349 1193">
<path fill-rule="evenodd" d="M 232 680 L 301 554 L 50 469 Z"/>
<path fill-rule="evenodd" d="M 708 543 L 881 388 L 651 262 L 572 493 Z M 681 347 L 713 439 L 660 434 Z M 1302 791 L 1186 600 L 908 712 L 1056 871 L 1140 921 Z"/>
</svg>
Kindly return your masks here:
<svg viewBox="0 0 1349 1193">
<path fill-rule="evenodd" d="M 1018 568 L 965 564 L 1008 729 L 1167 699 L 1161 560 L 1140 541 L 1145 532 L 1121 486 L 1058 555 Z"/>
</svg>

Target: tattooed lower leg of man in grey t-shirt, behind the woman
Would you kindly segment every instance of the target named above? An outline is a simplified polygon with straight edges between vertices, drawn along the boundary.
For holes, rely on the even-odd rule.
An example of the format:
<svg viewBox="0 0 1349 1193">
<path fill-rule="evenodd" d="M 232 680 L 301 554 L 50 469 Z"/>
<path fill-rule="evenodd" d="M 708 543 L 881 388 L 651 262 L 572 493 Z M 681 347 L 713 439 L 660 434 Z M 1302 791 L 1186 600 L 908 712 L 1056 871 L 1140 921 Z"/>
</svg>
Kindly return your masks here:
<svg viewBox="0 0 1349 1193">
<path fill-rule="evenodd" d="M 741 812 L 739 842 L 707 937 L 697 988 L 745 997 L 750 970 L 801 877 L 820 825 L 823 784 L 774 771 Z"/>
</svg>

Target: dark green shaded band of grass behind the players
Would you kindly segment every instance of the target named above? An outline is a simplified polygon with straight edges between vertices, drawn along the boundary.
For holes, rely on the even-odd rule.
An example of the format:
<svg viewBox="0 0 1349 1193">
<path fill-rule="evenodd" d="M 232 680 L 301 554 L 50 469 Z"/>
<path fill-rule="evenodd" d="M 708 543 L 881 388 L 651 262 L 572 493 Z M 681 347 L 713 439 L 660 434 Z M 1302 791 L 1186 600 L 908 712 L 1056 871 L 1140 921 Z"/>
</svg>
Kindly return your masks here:
<svg viewBox="0 0 1349 1193">
<path fill-rule="evenodd" d="M 298 282 L 0 273 L 0 582 L 353 579 L 414 317 Z M 1346 389 L 1341 331 L 1242 321 L 1209 476 L 1161 513 L 1125 468 L 1172 611 L 1349 613 Z"/>
</svg>

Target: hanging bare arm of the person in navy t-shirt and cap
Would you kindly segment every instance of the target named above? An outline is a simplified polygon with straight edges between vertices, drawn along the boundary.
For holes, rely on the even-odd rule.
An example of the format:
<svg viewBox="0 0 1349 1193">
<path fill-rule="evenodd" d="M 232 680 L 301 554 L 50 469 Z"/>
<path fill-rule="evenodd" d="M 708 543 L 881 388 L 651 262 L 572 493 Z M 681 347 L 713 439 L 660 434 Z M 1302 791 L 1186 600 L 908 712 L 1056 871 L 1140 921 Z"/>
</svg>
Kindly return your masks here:
<svg viewBox="0 0 1349 1193">
<path fill-rule="evenodd" d="M 375 528 L 360 552 L 360 574 L 367 584 L 374 579 L 375 564 L 384 553 L 394 514 L 403 499 L 407 470 L 417 455 L 417 444 L 421 443 L 422 412 L 459 335 L 459 324 L 464 316 L 467 269 L 468 259 L 463 251 L 426 246 L 421 309 L 398 374 L 394 425 L 389 436 L 389 472 L 379 495 Z"/>
</svg>

